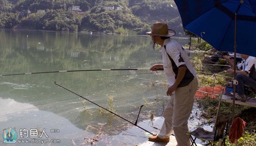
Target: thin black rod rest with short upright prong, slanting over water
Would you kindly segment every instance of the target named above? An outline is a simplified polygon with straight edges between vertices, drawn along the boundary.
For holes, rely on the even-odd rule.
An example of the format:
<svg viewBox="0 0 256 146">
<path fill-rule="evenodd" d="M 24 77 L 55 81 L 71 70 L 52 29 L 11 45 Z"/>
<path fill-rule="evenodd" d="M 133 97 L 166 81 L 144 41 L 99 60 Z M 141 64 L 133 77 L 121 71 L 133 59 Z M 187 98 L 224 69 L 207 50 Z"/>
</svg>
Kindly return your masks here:
<svg viewBox="0 0 256 146">
<path fill-rule="evenodd" d="M 59 87 L 62 87 L 61 85 L 57 84 L 56 81 L 54 81 L 54 84 L 58 85 Z M 84 98 L 83 96 L 81 96 L 81 95 L 79 95 L 79 94 L 77 94 L 77 93 L 74 93 L 73 91 L 68 90 L 68 89 L 65 88 L 65 87 L 62 87 L 62 88 L 65 89 L 65 90 L 67 90 L 67 91 L 69 91 L 69 92 L 71 92 L 71 93 L 73 93 L 73 94 L 76 94 L 76 95 L 80 96 L 81 98 Z M 84 99 L 87 100 L 87 101 L 89 101 L 89 102 L 91 102 L 91 103 L 93 103 L 93 104 L 95 104 L 95 105 L 98 106 L 98 107 L 101 107 L 101 108 L 104 109 L 104 110 L 107 110 L 108 112 L 110 112 L 110 113 L 112 113 L 112 114 L 118 116 L 119 118 L 122 118 L 120 115 L 117 115 L 116 113 L 111 112 L 110 110 L 108 110 L 108 109 L 106 109 L 106 108 L 100 106 L 99 104 L 96 104 L 96 103 L 94 103 L 93 101 L 90 101 L 90 100 L 87 99 L 87 98 L 84 98 Z M 140 106 L 140 110 L 141 110 L 142 107 L 143 107 L 143 105 Z M 140 112 L 139 112 L 139 115 L 140 115 Z M 138 117 L 139 117 L 139 115 L 138 115 Z M 140 127 L 140 126 L 137 125 L 138 118 L 137 118 L 137 120 L 136 120 L 135 123 L 132 123 L 131 121 L 128 121 L 128 120 L 125 119 L 125 118 L 122 118 L 122 119 L 125 120 L 125 121 L 127 121 L 127 122 L 129 122 L 129 123 L 131 123 L 131 124 L 133 124 L 134 126 L 139 127 L 140 129 L 143 129 L 142 127 Z M 148 130 L 146 130 L 146 129 L 143 129 L 143 130 L 144 130 L 145 132 L 148 132 L 148 133 L 150 133 L 151 135 L 153 135 L 153 133 L 149 132 Z"/>
</svg>

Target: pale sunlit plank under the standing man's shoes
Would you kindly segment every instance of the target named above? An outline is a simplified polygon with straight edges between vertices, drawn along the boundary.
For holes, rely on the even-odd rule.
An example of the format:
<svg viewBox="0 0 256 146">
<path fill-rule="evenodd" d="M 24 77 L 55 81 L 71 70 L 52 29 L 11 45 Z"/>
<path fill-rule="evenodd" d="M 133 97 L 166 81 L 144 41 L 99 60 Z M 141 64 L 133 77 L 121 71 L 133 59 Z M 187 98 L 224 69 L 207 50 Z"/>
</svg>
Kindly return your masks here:
<svg viewBox="0 0 256 146">
<path fill-rule="evenodd" d="M 202 146 L 201 144 L 198 143 L 197 145 Z M 177 141 L 175 139 L 175 136 L 171 135 L 169 143 L 145 141 L 144 143 L 141 143 L 138 146 L 177 146 Z"/>
</svg>

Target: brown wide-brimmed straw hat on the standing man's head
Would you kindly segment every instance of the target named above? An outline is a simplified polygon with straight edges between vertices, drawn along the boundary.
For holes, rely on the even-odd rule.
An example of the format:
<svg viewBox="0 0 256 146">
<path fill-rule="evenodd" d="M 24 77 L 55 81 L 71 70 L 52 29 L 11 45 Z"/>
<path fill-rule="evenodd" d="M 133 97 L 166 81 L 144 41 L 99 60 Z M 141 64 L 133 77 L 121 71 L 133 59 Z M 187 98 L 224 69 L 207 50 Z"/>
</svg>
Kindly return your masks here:
<svg viewBox="0 0 256 146">
<path fill-rule="evenodd" d="M 146 34 L 151 36 L 174 36 L 175 31 L 168 29 L 168 26 L 166 23 L 162 22 L 156 22 L 153 24 L 151 31 L 147 32 Z"/>
</svg>

